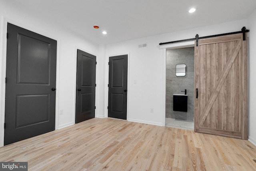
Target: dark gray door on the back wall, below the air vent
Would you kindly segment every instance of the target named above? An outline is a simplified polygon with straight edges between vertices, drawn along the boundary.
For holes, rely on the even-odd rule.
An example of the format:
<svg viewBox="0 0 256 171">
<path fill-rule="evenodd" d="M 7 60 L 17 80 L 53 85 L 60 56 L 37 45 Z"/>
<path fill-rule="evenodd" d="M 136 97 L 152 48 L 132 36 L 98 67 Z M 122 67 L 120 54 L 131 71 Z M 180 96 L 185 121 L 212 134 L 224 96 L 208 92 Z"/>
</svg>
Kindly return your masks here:
<svg viewBox="0 0 256 171">
<path fill-rule="evenodd" d="M 127 119 L 128 55 L 109 58 L 108 117 Z"/>
</svg>

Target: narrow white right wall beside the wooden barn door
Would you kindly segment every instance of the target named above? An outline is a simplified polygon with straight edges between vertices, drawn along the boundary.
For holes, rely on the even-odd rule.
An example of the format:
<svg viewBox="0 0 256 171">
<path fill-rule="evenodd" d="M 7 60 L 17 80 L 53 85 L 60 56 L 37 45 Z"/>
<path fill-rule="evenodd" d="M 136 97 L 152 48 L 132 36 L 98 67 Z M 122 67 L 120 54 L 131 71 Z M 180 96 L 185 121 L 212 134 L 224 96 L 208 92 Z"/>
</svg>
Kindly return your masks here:
<svg viewBox="0 0 256 171">
<path fill-rule="evenodd" d="M 256 10 L 249 17 L 249 140 L 256 145 Z"/>
</svg>

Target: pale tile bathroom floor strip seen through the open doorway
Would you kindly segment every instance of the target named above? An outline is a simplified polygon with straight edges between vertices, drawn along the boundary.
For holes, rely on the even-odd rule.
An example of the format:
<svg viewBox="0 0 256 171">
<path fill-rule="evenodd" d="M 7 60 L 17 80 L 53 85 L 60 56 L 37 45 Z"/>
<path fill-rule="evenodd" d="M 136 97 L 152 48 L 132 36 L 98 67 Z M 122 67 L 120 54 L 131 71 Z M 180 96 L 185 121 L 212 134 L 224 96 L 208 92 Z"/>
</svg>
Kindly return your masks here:
<svg viewBox="0 0 256 171">
<path fill-rule="evenodd" d="M 165 126 L 194 130 L 194 121 L 165 118 Z"/>
</svg>

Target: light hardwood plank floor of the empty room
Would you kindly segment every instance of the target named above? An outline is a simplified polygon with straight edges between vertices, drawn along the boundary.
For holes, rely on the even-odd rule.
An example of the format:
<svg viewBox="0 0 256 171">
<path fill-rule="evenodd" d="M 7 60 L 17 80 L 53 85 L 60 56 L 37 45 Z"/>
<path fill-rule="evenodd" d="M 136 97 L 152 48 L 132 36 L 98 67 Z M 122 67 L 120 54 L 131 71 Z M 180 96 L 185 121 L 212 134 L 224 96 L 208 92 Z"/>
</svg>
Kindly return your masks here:
<svg viewBox="0 0 256 171">
<path fill-rule="evenodd" d="M 94 118 L 0 148 L 29 170 L 255 171 L 247 140 L 112 118 Z"/>
</svg>

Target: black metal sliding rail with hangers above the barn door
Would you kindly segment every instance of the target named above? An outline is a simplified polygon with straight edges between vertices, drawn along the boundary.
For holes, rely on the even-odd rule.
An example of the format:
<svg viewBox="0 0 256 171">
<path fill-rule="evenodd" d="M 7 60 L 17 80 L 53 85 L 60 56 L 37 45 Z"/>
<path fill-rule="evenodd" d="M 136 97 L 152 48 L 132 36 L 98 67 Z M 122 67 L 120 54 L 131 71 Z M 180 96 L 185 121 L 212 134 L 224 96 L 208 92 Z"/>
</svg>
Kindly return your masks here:
<svg viewBox="0 0 256 171">
<path fill-rule="evenodd" d="M 198 46 L 198 40 L 199 40 L 199 39 L 213 38 L 213 37 L 226 36 L 226 35 L 238 34 L 238 33 L 242 33 L 242 34 L 243 34 L 243 40 L 246 40 L 246 34 L 245 34 L 245 33 L 247 33 L 247 32 L 250 32 L 250 30 L 247 30 L 246 27 L 243 27 L 243 28 L 241 29 L 241 31 L 238 31 L 238 32 L 231 32 L 231 33 L 224 33 L 224 34 L 216 34 L 216 35 L 204 36 L 204 37 L 199 37 L 198 34 L 196 34 L 196 38 L 184 39 L 184 40 L 176 40 L 176 41 L 172 41 L 172 42 L 164 42 L 164 43 L 160 43 L 159 45 L 163 45 L 163 44 L 172 44 L 172 43 L 178 43 L 178 42 L 188 42 L 188 41 L 196 40 L 196 46 Z"/>
</svg>

